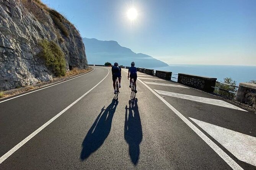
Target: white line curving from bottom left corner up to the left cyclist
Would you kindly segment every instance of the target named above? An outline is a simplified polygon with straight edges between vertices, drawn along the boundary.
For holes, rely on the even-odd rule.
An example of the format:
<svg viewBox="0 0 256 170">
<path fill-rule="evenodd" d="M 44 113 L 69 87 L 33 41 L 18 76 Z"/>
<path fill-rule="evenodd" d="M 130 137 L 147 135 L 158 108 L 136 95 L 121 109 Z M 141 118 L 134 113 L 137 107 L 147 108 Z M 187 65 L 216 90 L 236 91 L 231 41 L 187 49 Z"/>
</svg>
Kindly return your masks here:
<svg viewBox="0 0 256 170">
<path fill-rule="evenodd" d="M 108 74 L 106 75 L 106 77 L 109 75 L 109 69 L 108 69 Z M 104 77 L 104 79 L 106 79 L 106 77 Z M 99 83 L 101 83 L 104 79 L 102 79 Z M 6 160 L 9 156 L 11 156 L 11 154 L 13 154 L 15 151 L 17 151 L 21 146 L 23 146 L 25 143 L 27 143 L 29 140 L 31 140 L 31 138 L 33 138 L 36 134 L 38 134 L 41 130 L 43 130 L 45 127 L 47 127 L 50 123 L 52 123 L 55 119 L 57 119 L 60 115 L 62 115 L 65 111 L 67 111 L 70 107 L 72 107 L 74 104 L 76 104 L 79 100 L 81 100 L 85 95 L 87 95 L 88 93 L 90 93 L 91 90 L 93 90 L 95 87 L 97 87 L 98 84 L 96 84 L 93 88 L 91 88 L 89 91 L 87 91 L 85 94 L 83 94 L 80 98 L 78 98 L 76 101 L 74 101 L 72 104 L 70 104 L 68 107 L 66 107 L 64 110 L 62 110 L 61 112 L 59 112 L 57 115 L 55 115 L 52 119 L 50 119 L 48 122 L 44 123 L 44 125 L 42 125 L 41 127 L 39 127 L 36 131 L 34 131 L 33 133 L 31 133 L 28 137 L 26 137 L 23 141 L 21 141 L 20 143 L 18 143 L 15 147 L 13 147 L 10 151 L 8 151 L 7 153 L 5 153 L 2 157 L 0 157 L 0 164 L 2 164 L 2 162 L 4 160 Z"/>
</svg>

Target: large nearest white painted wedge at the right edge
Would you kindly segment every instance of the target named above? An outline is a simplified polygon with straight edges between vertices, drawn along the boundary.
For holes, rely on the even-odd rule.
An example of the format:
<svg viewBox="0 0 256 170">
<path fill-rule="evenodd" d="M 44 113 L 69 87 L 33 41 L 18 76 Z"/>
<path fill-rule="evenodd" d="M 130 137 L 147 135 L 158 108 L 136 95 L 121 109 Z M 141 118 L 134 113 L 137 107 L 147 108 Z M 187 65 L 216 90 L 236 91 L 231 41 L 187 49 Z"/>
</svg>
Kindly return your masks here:
<svg viewBox="0 0 256 170">
<path fill-rule="evenodd" d="M 237 159 L 256 166 L 256 138 L 235 132 L 227 128 L 219 127 L 201 120 L 193 119 L 199 127 L 212 136 Z"/>
</svg>

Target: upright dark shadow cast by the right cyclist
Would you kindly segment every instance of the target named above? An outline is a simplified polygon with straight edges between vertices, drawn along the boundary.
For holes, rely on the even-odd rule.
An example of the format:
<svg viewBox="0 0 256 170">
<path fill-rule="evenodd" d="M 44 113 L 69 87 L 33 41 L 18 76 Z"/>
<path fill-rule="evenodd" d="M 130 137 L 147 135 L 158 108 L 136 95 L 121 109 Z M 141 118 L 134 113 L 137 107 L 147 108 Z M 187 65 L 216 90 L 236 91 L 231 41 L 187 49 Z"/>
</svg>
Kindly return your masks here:
<svg viewBox="0 0 256 170">
<path fill-rule="evenodd" d="M 140 156 L 140 142 L 142 141 L 142 126 L 138 108 L 138 99 L 129 100 L 129 107 L 126 105 L 124 122 L 124 139 L 129 144 L 130 159 L 137 165 Z"/>
</svg>

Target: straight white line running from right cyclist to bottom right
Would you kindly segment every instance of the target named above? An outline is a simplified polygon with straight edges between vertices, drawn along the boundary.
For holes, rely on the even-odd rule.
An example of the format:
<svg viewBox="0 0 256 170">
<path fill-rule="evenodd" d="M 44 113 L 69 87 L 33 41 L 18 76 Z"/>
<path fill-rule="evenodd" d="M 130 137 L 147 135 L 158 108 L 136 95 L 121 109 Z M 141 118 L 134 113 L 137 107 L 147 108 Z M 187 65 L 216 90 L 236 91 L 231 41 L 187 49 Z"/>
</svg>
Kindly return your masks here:
<svg viewBox="0 0 256 170">
<path fill-rule="evenodd" d="M 163 103 L 166 104 L 176 115 L 183 120 L 196 134 L 202 138 L 232 169 L 234 170 L 243 170 L 240 165 L 238 165 L 226 152 L 224 152 L 220 147 L 217 146 L 210 138 L 208 138 L 201 130 L 199 130 L 193 123 L 191 123 L 186 117 L 184 117 L 179 111 L 177 111 L 171 104 L 169 104 L 165 99 L 153 91 L 148 85 L 138 79 L 143 85 L 145 85 L 154 95 L 156 95 Z"/>
</svg>

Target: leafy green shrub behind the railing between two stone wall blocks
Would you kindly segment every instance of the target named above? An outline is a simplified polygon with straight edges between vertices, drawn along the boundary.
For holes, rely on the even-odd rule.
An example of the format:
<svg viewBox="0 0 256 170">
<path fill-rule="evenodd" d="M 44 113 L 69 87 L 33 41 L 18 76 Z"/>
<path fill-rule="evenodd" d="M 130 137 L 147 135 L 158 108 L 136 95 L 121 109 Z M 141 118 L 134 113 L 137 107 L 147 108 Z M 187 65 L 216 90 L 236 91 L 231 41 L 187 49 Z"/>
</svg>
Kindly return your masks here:
<svg viewBox="0 0 256 170">
<path fill-rule="evenodd" d="M 234 86 L 236 85 L 236 81 L 232 80 L 232 78 L 230 78 L 230 77 L 226 77 L 223 80 L 224 80 L 223 83 L 227 83 L 227 84 L 234 85 Z M 221 83 L 216 83 L 215 87 L 221 88 L 221 89 L 224 89 L 224 90 L 228 90 L 228 91 L 233 91 L 233 92 L 237 91 L 236 87 L 221 84 Z M 223 96 L 223 97 L 225 97 L 225 98 L 230 98 L 230 99 L 235 98 L 235 94 L 227 92 L 227 91 L 215 89 L 214 92 Z"/>
</svg>

